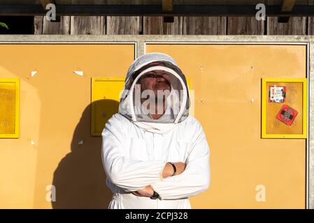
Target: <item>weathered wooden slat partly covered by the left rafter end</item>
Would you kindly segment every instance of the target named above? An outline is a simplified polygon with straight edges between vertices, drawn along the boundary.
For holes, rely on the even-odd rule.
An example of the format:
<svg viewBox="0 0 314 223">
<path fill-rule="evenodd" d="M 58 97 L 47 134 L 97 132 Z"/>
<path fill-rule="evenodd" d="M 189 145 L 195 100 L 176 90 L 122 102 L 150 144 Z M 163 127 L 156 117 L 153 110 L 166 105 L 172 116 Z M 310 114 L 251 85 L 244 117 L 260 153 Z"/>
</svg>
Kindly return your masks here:
<svg viewBox="0 0 314 223">
<path fill-rule="evenodd" d="M 43 18 L 43 34 L 70 34 L 70 16 L 61 16 L 60 22 L 50 22 Z"/>
</svg>

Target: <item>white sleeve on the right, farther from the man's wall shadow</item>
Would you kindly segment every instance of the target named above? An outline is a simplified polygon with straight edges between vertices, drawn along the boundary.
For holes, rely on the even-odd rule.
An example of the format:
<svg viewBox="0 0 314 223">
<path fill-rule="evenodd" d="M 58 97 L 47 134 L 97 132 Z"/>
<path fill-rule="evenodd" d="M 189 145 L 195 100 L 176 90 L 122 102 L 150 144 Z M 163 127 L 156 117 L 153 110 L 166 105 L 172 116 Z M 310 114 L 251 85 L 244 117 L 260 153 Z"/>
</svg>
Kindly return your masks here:
<svg viewBox="0 0 314 223">
<path fill-rule="evenodd" d="M 210 184 L 209 146 L 199 124 L 193 137 L 187 166 L 182 174 L 152 183 L 151 187 L 161 199 L 183 199 L 208 189 Z"/>
</svg>

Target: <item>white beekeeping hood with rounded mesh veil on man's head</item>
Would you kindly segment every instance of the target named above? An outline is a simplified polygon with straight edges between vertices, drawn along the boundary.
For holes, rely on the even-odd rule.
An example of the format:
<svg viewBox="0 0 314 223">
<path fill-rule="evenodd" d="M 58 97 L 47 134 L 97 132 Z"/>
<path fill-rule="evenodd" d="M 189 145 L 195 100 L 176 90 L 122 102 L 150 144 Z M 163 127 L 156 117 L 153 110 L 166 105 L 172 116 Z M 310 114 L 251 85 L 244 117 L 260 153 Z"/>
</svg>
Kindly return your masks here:
<svg viewBox="0 0 314 223">
<path fill-rule="evenodd" d="M 143 93 L 141 84 L 138 82 L 142 76 L 145 77 L 154 70 L 166 74 L 167 81 L 171 86 L 168 94 L 164 96 L 164 112 L 158 119 L 152 118 L 151 111 L 149 112 L 148 107 L 143 106 L 148 100 L 141 102 Z M 154 99 L 154 102 L 155 100 L 157 101 Z M 119 114 L 143 130 L 166 134 L 176 128 L 178 123 L 185 121 L 189 116 L 189 109 L 190 97 L 185 75 L 171 56 L 157 52 L 148 53 L 139 56 L 131 64 L 125 78 L 124 89 L 120 95 Z"/>
</svg>

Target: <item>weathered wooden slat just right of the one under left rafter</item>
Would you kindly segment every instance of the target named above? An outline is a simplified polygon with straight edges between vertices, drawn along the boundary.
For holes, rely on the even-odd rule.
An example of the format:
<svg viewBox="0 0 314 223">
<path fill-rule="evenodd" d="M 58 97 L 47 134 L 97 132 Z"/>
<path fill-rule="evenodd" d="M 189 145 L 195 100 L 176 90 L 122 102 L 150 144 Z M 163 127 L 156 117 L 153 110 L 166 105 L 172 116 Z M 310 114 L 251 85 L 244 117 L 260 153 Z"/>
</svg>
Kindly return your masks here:
<svg viewBox="0 0 314 223">
<path fill-rule="evenodd" d="M 106 33 L 105 16 L 71 16 L 71 35 L 102 35 Z"/>
</svg>

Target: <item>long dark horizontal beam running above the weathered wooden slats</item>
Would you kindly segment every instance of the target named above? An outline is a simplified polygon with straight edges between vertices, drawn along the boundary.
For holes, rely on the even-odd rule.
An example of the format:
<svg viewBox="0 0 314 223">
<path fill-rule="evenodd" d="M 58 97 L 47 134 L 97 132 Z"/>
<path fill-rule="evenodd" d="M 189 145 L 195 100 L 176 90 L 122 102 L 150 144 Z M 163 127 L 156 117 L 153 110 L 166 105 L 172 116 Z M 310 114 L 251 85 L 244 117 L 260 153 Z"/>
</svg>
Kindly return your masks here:
<svg viewBox="0 0 314 223">
<path fill-rule="evenodd" d="M 314 5 L 295 5 L 290 12 L 280 13 L 280 5 L 267 5 L 266 17 L 314 16 Z M 168 13 L 161 5 L 85 5 L 58 4 L 57 15 L 106 16 L 253 16 L 255 5 L 173 5 Z M 41 4 L 2 4 L 0 15 L 45 15 Z"/>
</svg>

